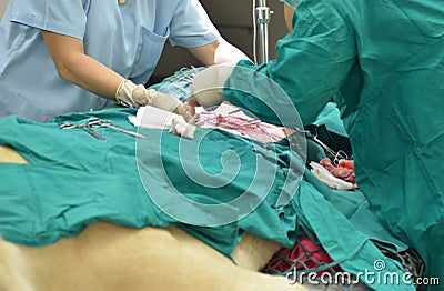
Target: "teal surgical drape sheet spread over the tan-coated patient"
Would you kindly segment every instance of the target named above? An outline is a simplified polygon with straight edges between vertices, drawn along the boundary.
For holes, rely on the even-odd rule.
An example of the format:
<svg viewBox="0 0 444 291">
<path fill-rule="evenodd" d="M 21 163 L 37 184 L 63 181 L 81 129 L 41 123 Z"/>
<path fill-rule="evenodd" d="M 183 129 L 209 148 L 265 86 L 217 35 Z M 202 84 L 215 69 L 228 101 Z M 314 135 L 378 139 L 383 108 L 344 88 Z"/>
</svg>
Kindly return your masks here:
<svg viewBox="0 0 444 291">
<path fill-rule="evenodd" d="M 138 174 L 133 137 L 110 129 L 97 129 L 108 139 L 103 142 L 82 130 L 59 129 L 61 121 L 80 122 L 92 114 L 131 129 L 125 120 L 129 113 L 129 109 L 113 109 L 69 114 L 43 124 L 18 117 L 1 119 L 0 144 L 14 148 L 29 164 L 0 164 L 0 234 L 17 243 L 44 245 L 77 235 L 97 221 L 132 228 L 178 225 L 230 255 L 242 231 L 272 239 L 285 247 L 292 247 L 297 234 L 307 232 L 317 238 L 345 270 L 373 270 L 375 260 L 384 260 L 387 267 L 384 271 L 400 275 L 403 272 L 397 263 L 382 255 L 372 240 L 393 251 L 405 250 L 406 245 L 395 239 L 370 211 L 361 192 L 327 189 L 305 171 L 305 178 L 290 203 L 282 209 L 274 207 L 287 172 L 289 159 L 292 158 L 285 141 L 276 144 L 279 163 L 273 165 L 276 167 L 275 180 L 264 202 L 239 221 L 206 228 L 176 221 L 152 203 Z M 150 139 L 151 134 L 147 137 Z M 183 191 L 182 194 L 219 203 L 236 197 L 249 187 L 254 173 L 249 170 L 251 167 L 242 168 L 235 182 L 223 189 L 205 191 L 192 184 L 182 175 L 175 153 L 180 138 L 165 132 L 162 139 L 165 171 L 176 173 L 170 178 Z M 152 142 L 159 143 L 159 140 Z M 206 169 L 214 169 L 220 153 L 228 149 L 235 150 L 246 164 L 252 162 L 254 155 L 251 141 L 223 131 L 211 131 L 200 147 L 204 153 L 201 163 Z M 268 154 L 265 146 L 259 151 L 260 154 Z M 147 149 L 147 152 L 150 150 Z M 162 177 L 157 171 L 163 170 L 151 169 L 152 179 Z M 379 290 L 384 288 L 387 287 L 377 287 Z"/>
</svg>

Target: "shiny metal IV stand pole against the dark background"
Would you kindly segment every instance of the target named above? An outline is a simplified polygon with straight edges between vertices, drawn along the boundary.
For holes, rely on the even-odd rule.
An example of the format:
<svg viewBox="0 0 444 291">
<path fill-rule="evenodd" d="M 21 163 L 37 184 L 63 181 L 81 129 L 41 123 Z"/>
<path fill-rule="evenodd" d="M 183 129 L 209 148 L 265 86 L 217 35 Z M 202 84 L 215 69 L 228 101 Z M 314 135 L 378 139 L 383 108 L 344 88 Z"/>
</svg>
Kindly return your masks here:
<svg viewBox="0 0 444 291">
<path fill-rule="evenodd" d="M 256 8 L 259 23 L 259 61 L 260 63 L 269 62 L 269 23 L 273 11 L 266 6 L 266 0 L 259 0 Z"/>
</svg>

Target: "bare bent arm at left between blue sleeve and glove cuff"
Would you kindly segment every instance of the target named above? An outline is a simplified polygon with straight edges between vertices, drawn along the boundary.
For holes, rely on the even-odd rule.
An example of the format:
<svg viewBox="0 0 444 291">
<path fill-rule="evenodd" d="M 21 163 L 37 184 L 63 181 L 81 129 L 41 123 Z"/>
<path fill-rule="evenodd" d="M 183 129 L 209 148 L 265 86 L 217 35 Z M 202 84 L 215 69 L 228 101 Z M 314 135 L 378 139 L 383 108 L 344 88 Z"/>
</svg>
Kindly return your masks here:
<svg viewBox="0 0 444 291">
<path fill-rule="evenodd" d="M 98 96 L 114 99 L 122 77 L 84 54 L 79 39 L 42 31 L 59 76 Z"/>
</svg>

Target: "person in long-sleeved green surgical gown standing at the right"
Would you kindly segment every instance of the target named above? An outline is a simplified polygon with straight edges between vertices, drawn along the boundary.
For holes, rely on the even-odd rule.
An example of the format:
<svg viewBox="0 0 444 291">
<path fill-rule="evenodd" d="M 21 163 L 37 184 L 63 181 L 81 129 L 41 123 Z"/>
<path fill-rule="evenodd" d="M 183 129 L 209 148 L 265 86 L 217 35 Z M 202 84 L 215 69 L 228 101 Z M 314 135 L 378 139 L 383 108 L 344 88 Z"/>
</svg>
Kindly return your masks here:
<svg viewBox="0 0 444 291">
<path fill-rule="evenodd" d="M 230 102 L 273 123 L 281 120 L 266 100 L 279 97 L 253 72 L 284 89 L 304 124 L 333 97 L 360 189 L 393 233 L 421 253 L 426 275 L 443 284 L 444 1 L 300 0 L 293 27 L 279 41 L 276 60 L 240 61 L 212 81 L 224 81 Z M 195 100 L 219 103 L 221 94 L 199 96 L 200 79 Z"/>
</svg>

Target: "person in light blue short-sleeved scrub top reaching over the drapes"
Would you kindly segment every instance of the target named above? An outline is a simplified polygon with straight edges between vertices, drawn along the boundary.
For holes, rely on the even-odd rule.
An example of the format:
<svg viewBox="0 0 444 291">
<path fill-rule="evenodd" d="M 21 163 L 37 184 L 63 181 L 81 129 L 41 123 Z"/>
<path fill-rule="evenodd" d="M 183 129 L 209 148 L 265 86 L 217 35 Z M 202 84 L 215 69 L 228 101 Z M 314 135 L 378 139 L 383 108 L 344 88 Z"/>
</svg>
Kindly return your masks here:
<svg viewBox="0 0 444 291">
<path fill-rule="evenodd" d="M 0 27 L 0 117 L 48 121 L 115 101 L 147 104 L 154 92 L 142 84 L 167 40 L 204 64 L 248 59 L 198 0 L 10 0 Z"/>
</svg>

